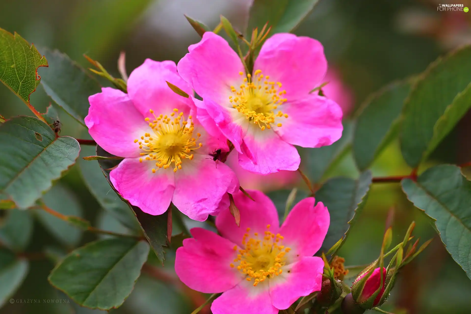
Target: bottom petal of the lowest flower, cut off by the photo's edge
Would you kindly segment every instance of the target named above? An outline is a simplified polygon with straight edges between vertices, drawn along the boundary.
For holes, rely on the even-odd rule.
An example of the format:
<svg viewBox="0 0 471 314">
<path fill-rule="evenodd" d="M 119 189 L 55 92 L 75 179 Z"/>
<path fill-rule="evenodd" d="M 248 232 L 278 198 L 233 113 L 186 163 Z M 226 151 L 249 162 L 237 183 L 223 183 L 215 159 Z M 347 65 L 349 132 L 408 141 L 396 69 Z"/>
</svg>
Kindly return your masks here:
<svg viewBox="0 0 471 314">
<path fill-rule="evenodd" d="M 268 289 L 263 288 L 253 287 L 250 282 L 241 282 L 215 299 L 211 305 L 211 312 L 213 314 L 278 313 L 278 310 L 271 304 Z"/>
</svg>

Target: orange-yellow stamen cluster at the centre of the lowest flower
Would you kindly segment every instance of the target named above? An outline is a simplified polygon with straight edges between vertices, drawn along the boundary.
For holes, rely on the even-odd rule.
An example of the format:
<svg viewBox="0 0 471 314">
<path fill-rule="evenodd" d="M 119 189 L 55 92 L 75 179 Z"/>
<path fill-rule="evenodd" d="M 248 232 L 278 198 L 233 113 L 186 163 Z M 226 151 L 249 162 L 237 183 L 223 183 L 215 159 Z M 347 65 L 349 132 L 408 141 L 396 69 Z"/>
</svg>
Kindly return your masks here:
<svg viewBox="0 0 471 314">
<path fill-rule="evenodd" d="M 283 236 L 279 233 L 275 234 L 270 231 L 270 225 L 267 225 L 267 231 L 260 239 L 258 233 L 253 233 L 253 237 L 249 238 L 250 228 L 244 233 L 242 239 L 243 249 L 239 250 L 237 258 L 234 259 L 235 266 L 239 272 L 246 274 L 247 281 L 252 281 L 253 286 L 257 286 L 260 282 L 267 278 L 273 278 L 282 273 L 281 267 L 286 265 L 285 254 L 291 249 L 282 245 Z M 237 250 L 237 246 L 234 247 Z"/>
</svg>

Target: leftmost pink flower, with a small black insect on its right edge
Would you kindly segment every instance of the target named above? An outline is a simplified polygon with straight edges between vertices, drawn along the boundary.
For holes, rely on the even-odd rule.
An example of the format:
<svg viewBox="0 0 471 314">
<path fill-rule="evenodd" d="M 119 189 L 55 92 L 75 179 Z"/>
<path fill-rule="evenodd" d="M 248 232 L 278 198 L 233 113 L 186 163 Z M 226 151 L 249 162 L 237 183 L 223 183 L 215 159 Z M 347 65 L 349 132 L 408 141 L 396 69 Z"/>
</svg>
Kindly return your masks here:
<svg viewBox="0 0 471 314">
<path fill-rule="evenodd" d="M 107 152 L 124 157 L 110 173 L 114 187 L 132 205 L 151 215 L 170 202 L 203 221 L 229 205 L 227 193 L 239 183 L 235 173 L 209 154 L 227 151 L 225 139 L 209 136 L 195 120 L 192 99 L 174 93 L 165 81 L 188 94 L 173 61 L 146 59 L 129 77 L 128 94 L 112 88 L 89 97 L 85 124 Z"/>
</svg>

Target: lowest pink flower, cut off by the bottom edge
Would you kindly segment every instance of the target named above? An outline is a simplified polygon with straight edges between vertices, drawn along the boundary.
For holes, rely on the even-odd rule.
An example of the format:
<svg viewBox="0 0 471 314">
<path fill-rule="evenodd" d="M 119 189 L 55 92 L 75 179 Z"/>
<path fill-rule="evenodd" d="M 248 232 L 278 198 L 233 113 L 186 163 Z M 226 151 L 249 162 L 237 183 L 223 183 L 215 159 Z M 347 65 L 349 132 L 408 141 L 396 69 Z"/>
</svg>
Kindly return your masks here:
<svg viewBox="0 0 471 314">
<path fill-rule="evenodd" d="M 229 209 L 216 217 L 216 233 L 193 228 L 177 250 L 175 271 L 193 290 L 223 292 L 214 314 L 275 314 L 320 290 L 324 262 L 313 257 L 329 227 L 329 212 L 314 198 L 294 206 L 281 227 L 273 202 L 259 191 L 234 195 L 237 227 Z"/>
</svg>

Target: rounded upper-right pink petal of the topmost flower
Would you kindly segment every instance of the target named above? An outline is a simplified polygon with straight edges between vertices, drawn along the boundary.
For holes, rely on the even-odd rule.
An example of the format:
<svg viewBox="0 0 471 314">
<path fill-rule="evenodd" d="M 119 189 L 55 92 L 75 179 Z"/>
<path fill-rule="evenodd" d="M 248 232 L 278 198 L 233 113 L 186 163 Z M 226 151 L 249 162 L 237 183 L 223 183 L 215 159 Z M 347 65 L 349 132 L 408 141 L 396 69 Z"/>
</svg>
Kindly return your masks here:
<svg viewBox="0 0 471 314">
<path fill-rule="evenodd" d="M 302 98 L 319 86 L 327 71 L 322 44 L 309 37 L 278 33 L 268 38 L 255 60 L 254 70 L 279 81 L 288 101 Z"/>
</svg>

